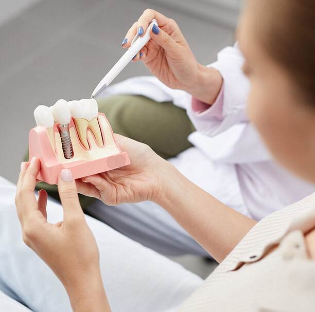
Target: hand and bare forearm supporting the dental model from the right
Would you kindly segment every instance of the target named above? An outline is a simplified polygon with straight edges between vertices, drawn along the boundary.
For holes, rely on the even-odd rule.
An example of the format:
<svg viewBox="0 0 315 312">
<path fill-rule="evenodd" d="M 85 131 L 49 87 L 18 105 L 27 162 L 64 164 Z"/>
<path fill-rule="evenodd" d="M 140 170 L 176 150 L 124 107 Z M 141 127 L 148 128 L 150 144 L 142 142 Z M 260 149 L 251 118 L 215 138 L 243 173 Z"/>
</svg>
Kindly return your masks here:
<svg viewBox="0 0 315 312">
<path fill-rule="evenodd" d="M 148 145 L 115 135 L 131 164 L 77 180 L 78 191 L 114 206 L 151 200 L 163 207 L 217 261 L 256 224 L 184 177 Z"/>
</svg>

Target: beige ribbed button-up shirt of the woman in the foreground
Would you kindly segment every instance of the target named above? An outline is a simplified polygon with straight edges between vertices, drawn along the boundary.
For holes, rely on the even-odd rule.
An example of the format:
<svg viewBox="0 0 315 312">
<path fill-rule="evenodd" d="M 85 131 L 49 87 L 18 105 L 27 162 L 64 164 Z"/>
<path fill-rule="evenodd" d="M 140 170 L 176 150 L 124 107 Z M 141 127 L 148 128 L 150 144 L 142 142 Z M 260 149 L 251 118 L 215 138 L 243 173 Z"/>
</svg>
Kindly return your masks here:
<svg viewBox="0 0 315 312">
<path fill-rule="evenodd" d="M 314 227 L 315 193 L 267 216 L 179 311 L 314 312 L 315 261 L 308 259 L 304 242 Z"/>
</svg>

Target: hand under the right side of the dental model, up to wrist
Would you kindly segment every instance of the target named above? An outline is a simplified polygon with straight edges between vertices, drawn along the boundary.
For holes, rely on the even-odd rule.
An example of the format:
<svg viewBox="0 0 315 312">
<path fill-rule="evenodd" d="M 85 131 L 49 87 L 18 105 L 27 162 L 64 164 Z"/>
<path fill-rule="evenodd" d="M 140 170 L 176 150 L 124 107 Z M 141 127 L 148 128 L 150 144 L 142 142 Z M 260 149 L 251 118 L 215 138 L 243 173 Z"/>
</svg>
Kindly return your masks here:
<svg viewBox="0 0 315 312">
<path fill-rule="evenodd" d="M 77 180 L 78 192 L 110 206 L 158 200 L 171 164 L 146 144 L 118 134 L 115 139 L 120 149 L 128 152 L 131 164 Z"/>
</svg>

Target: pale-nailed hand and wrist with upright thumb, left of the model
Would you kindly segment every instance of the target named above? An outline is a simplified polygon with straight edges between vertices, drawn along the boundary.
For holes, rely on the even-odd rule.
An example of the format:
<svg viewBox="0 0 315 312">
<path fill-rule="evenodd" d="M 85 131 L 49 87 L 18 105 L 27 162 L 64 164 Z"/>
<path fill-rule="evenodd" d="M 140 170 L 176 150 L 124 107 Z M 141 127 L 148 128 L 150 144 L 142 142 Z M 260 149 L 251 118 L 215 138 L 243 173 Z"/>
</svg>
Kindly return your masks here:
<svg viewBox="0 0 315 312">
<path fill-rule="evenodd" d="M 62 171 L 58 191 L 64 211 L 62 222 L 47 222 L 47 193 L 34 189 L 40 161 L 21 164 L 15 204 L 23 240 L 54 271 L 64 285 L 74 311 L 110 311 L 103 288 L 99 251 L 85 222 L 71 171 Z M 91 309 L 91 307 L 94 307 Z"/>
</svg>

